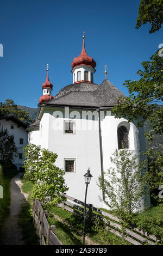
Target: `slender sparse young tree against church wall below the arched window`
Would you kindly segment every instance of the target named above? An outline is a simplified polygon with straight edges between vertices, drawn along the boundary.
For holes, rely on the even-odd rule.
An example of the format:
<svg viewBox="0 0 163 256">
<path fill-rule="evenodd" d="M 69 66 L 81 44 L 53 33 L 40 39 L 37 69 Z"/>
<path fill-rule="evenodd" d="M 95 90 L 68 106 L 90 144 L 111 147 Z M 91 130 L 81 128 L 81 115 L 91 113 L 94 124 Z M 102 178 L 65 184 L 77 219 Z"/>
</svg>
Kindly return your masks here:
<svg viewBox="0 0 163 256">
<path fill-rule="evenodd" d="M 98 186 L 105 194 L 105 203 L 116 211 L 122 224 L 132 224 L 133 213 L 141 207 L 146 194 L 145 162 L 137 162 L 139 156 L 126 149 L 115 150 L 110 157 L 114 167 L 99 176 Z"/>
</svg>

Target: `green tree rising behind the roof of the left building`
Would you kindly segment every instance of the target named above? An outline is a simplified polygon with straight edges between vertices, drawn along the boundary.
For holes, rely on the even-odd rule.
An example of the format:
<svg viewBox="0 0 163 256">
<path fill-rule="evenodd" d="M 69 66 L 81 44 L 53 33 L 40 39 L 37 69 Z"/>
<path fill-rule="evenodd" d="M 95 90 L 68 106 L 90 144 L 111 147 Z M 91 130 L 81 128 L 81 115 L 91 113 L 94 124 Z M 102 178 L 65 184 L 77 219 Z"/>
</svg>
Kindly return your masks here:
<svg viewBox="0 0 163 256">
<path fill-rule="evenodd" d="M 25 124 L 29 124 L 32 120 L 29 117 L 29 113 L 23 109 L 19 109 L 13 100 L 7 99 L 0 103 L 0 115 L 3 117 L 8 117 L 14 115 Z"/>
</svg>

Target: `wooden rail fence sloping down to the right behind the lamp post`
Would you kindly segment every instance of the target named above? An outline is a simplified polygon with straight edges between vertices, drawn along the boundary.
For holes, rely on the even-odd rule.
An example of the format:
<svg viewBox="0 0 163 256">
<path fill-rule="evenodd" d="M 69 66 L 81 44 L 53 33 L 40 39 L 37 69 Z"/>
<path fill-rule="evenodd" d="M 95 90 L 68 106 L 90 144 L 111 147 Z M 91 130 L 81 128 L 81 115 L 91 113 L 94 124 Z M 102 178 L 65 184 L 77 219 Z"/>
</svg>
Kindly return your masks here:
<svg viewBox="0 0 163 256">
<path fill-rule="evenodd" d="M 67 200 L 62 204 L 58 204 L 58 206 L 62 207 L 62 209 L 72 212 L 73 214 L 83 217 L 84 202 L 70 197 L 67 194 L 65 194 L 65 197 Z M 133 230 L 126 228 L 124 229 L 125 234 L 122 234 L 122 225 L 120 224 L 119 218 L 109 214 L 108 212 L 93 207 L 92 204 L 86 204 L 86 218 L 90 218 L 90 220 L 92 220 L 93 217 L 98 218 L 99 220 L 102 220 L 106 223 L 108 223 L 109 220 L 109 231 L 117 236 L 122 237 L 124 240 L 132 243 L 133 245 L 144 245 L 145 243 L 148 245 L 155 245 L 156 241 L 158 241 L 154 235 L 148 235 L 146 232 L 143 232 L 137 228 Z"/>
</svg>

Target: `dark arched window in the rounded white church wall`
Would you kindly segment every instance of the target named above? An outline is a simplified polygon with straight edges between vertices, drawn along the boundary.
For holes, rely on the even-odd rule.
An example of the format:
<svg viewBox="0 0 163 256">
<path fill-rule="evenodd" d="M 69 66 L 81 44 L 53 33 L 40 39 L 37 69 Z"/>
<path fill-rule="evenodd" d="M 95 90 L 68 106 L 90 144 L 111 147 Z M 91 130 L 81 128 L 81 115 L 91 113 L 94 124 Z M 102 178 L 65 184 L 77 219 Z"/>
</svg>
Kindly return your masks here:
<svg viewBox="0 0 163 256">
<path fill-rule="evenodd" d="M 118 149 L 128 149 L 129 143 L 128 143 L 128 130 L 125 126 L 118 127 L 117 130 L 117 136 L 118 136 Z"/>
</svg>

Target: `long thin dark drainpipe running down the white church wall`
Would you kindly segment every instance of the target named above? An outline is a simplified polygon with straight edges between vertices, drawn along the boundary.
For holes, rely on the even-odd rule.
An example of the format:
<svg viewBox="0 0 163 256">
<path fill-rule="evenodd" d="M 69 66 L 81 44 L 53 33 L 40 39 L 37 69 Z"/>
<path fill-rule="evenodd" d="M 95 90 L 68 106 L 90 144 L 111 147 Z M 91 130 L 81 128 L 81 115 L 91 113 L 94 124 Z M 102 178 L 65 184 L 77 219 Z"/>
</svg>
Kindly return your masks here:
<svg viewBox="0 0 163 256">
<path fill-rule="evenodd" d="M 103 165 L 103 148 L 102 148 L 102 136 L 101 136 L 101 120 L 100 120 L 100 109 L 96 109 L 98 113 L 98 131 L 99 131 L 99 150 L 100 150 L 100 159 L 101 159 L 101 176 L 102 180 L 104 180 L 104 165 Z M 105 193 L 102 191 L 103 194 L 103 202 L 106 204 L 105 201 Z"/>
</svg>

